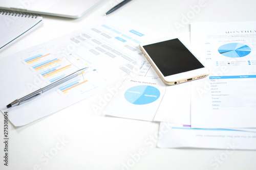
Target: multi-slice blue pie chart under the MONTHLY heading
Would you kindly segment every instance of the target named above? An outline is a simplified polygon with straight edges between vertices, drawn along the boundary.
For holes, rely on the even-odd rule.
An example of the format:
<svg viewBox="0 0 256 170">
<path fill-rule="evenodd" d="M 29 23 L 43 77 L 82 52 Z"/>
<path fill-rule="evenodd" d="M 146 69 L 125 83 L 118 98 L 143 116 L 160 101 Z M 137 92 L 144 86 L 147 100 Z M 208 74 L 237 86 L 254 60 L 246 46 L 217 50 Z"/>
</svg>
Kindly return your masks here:
<svg viewBox="0 0 256 170">
<path fill-rule="evenodd" d="M 218 52 L 226 57 L 238 58 L 250 54 L 251 48 L 248 45 L 242 43 L 228 43 L 221 45 L 218 49 Z"/>
</svg>

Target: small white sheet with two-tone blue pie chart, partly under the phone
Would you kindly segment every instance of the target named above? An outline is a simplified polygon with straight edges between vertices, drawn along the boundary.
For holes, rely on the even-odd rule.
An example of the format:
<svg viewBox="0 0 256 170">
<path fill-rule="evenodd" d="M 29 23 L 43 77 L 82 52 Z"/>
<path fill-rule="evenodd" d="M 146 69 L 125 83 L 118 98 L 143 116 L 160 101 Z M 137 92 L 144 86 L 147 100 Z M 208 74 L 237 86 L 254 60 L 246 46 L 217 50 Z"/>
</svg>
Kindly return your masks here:
<svg viewBox="0 0 256 170">
<path fill-rule="evenodd" d="M 104 114 L 153 121 L 165 93 L 166 85 L 144 56 L 118 86 L 118 91 Z M 110 90 L 111 91 L 111 90 Z"/>
</svg>

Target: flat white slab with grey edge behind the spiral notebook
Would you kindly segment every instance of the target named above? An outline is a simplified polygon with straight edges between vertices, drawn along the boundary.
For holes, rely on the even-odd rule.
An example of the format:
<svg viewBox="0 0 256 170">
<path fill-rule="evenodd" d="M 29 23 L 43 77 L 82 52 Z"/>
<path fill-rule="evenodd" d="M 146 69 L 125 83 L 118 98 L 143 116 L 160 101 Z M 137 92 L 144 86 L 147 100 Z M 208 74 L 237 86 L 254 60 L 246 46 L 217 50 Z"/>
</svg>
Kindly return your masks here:
<svg viewBox="0 0 256 170">
<path fill-rule="evenodd" d="M 0 9 L 40 15 L 79 18 L 104 1 L 106 0 L 0 0 Z"/>
</svg>

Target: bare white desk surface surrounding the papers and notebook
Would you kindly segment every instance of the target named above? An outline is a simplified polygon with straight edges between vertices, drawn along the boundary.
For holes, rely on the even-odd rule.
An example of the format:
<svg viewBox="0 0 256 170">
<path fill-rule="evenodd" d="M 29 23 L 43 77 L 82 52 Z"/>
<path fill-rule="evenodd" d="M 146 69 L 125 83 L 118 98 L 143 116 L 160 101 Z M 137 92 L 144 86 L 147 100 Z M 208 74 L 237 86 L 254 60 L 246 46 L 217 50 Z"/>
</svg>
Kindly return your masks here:
<svg viewBox="0 0 256 170">
<path fill-rule="evenodd" d="M 256 1 L 252 0 L 134 0 L 104 16 L 120 1 L 106 0 L 78 19 L 43 16 L 44 25 L 0 52 L 0 57 L 115 15 L 168 35 L 177 31 L 174 22 L 181 22 L 182 16 L 192 11 L 191 6 L 199 3 L 205 6 L 191 17 L 190 22 L 251 21 L 256 16 Z M 189 31 L 189 25 L 181 31 Z M 0 169 L 256 169 L 256 151 L 234 151 L 216 166 L 212 164 L 213 160 L 219 159 L 225 150 L 157 148 L 154 136 L 158 132 L 158 123 L 96 115 L 91 106 L 98 104 L 99 96 L 103 94 L 24 127 L 15 128 L 9 124 L 8 167 L 3 162 L 4 116 L 0 114 Z M 65 143 L 61 144 L 59 140 L 65 140 Z M 144 154 L 138 156 L 143 149 Z M 53 155 L 47 156 L 49 153 Z"/>
</svg>

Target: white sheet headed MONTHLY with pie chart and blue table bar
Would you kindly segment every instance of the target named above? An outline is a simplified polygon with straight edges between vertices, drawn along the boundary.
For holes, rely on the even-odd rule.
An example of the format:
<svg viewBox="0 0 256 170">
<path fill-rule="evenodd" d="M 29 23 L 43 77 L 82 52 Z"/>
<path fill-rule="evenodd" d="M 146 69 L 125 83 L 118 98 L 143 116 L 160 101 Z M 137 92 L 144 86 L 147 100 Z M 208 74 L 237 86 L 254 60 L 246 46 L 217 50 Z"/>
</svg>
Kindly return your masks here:
<svg viewBox="0 0 256 170">
<path fill-rule="evenodd" d="M 256 22 L 191 24 L 191 45 L 210 75 L 191 82 L 193 128 L 256 127 Z"/>
</svg>

